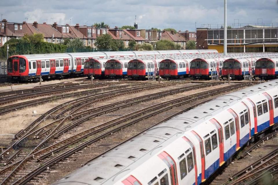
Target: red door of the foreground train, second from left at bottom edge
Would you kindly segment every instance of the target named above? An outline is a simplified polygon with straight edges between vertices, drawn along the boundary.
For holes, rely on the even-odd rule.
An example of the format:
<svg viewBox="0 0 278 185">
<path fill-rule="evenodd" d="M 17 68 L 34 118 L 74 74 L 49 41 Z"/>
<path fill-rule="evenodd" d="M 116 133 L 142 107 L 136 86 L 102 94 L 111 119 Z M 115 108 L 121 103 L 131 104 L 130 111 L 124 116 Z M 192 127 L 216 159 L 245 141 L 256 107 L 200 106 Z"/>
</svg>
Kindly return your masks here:
<svg viewBox="0 0 278 185">
<path fill-rule="evenodd" d="M 165 162 L 167 164 L 167 166 L 169 167 L 169 171 L 170 171 L 170 180 L 171 180 L 171 184 L 172 185 L 178 185 L 178 179 L 177 179 L 177 166 L 176 166 L 176 163 L 175 161 L 173 160 L 173 158 L 168 154 L 166 153 L 165 151 L 163 151 L 162 153 L 160 153 L 158 155 L 158 157 L 160 159 L 163 160 L 163 162 Z"/>
</svg>

